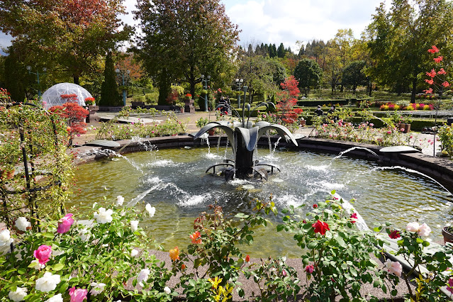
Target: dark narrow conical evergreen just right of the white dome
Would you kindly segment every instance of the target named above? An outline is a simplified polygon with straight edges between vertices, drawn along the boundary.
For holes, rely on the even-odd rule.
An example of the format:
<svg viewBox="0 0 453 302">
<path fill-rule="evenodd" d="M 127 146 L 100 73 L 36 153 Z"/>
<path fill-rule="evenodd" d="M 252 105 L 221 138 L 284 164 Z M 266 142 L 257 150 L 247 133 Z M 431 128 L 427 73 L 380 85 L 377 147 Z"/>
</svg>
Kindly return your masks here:
<svg viewBox="0 0 453 302">
<path fill-rule="evenodd" d="M 121 106 L 121 96 L 118 94 L 118 86 L 116 84 L 115 65 L 111 52 L 108 52 L 106 57 L 106 67 L 104 69 L 104 82 L 101 86 L 101 101 L 99 106 Z"/>
</svg>

